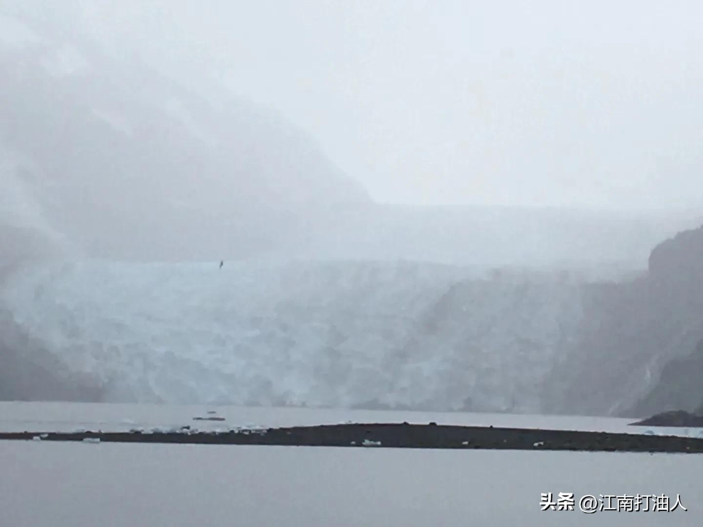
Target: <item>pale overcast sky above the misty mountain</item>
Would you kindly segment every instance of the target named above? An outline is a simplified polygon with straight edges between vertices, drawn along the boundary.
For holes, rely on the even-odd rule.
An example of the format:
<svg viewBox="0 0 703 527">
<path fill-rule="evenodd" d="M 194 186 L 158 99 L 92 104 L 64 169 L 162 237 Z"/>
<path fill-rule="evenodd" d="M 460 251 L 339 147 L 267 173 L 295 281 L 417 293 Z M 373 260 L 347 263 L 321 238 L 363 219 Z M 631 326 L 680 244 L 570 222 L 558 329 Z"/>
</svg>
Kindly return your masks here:
<svg viewBox="0 0 703 527">
<path fill-rule="evenodd" d="M 703 205 L 703 6 L 82 0 L 93 30 L 307 129 L 377 200 Z"/>
</svg>

